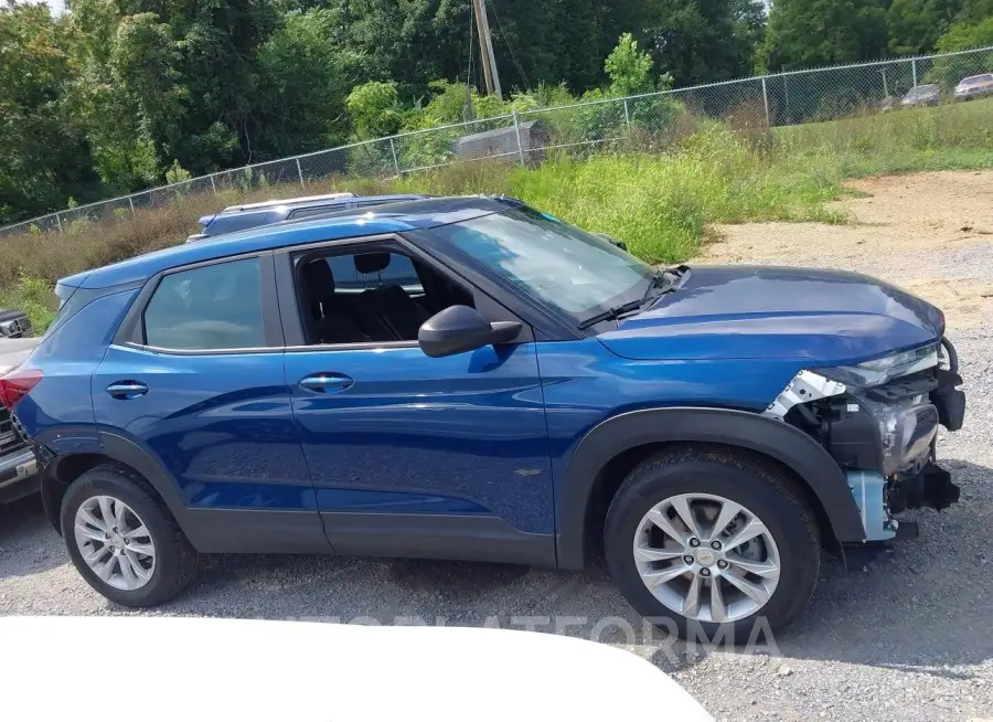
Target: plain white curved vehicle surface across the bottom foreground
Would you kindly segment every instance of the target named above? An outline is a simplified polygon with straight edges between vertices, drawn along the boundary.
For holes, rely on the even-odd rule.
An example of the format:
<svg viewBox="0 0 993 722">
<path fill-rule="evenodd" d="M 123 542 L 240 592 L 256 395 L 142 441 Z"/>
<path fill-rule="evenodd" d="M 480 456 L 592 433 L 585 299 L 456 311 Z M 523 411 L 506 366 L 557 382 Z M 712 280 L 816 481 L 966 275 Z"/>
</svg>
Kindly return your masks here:
<svg viewBox="0 0 993 722">
<path fill-rule="evenodd" d="M 0 640 L 3 716 L 19 722 L 713 722 L 640 657 L 533 631 L 6 617 Z"/>
</svg>

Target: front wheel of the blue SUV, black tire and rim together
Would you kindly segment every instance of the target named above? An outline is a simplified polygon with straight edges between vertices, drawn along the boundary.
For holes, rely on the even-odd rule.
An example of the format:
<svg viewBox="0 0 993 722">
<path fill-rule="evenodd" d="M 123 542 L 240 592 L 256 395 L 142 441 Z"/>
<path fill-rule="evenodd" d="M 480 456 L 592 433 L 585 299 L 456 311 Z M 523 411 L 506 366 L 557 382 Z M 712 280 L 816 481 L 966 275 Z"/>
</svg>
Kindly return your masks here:
<svg viewBox="0 0 993 722">
<path fill-rule="evenodd" d="M 665 452 L 628 475 L 604 549 L 642 616 L 670 620 L 684 639 L 732 644 L 790 624 L 821 560 L 813 513 L 788 478 L 747 452 L 705 447 Z"/>
</svg>

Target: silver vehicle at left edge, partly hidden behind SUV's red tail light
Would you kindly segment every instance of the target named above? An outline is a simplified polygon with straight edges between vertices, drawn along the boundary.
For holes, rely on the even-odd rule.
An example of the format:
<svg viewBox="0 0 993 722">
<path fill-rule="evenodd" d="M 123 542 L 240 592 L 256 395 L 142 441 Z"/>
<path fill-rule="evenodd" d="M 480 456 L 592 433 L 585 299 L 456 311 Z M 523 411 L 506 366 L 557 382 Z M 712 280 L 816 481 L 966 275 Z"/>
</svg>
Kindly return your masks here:
<svg viewBox="0 0 993 722">
<path fill-rule="evenodd" d="M 0 338 L 0 375 L 21 365 L 39 341 L 34 337 Z M 0 400 L 2 393 L 0 389 Z M 0 407 L 0 503 L 36 493 L 38 489 L 34 449 L 21 435 L 10 411 L 6 406 Z"/>
</svg>

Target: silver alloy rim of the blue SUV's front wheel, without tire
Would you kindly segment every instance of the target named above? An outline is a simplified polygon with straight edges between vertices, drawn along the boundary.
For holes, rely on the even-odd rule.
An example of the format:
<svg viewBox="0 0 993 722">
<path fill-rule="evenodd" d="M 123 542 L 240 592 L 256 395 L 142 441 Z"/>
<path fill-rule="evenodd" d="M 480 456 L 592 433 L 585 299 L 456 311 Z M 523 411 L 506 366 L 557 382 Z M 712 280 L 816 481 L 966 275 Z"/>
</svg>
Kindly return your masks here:
<svg viewBox="0 0 993 722">
<path fill-rule="evenodd" d="M 756 614 L 779 584 L 779 549 L 766 524 L 716 495 L 683 493 L 656 503 L 638 524 L 633 554 L 649 592 L 696 622 Z"/>
</svg>

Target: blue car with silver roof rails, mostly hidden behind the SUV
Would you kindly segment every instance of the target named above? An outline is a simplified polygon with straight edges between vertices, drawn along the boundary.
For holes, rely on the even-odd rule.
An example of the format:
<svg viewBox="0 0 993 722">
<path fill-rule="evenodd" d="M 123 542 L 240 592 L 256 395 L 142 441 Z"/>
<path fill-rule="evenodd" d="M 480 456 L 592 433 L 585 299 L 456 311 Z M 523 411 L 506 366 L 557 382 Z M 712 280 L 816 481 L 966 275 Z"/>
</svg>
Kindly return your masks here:
<svg viewBox="0 0 993 722">
<path fill-rule="evenodd" d="M 306 198 L 229 205 L 220 213 L 201 217 L 199 223 L 203 229 L 200 233 L 189 236 L 186 243 L 203 241 L 204 238 L 212 238 L 237 231 L 246 231 L 259 225 L 279 223 L 280 221 L 295 221 L 323 215 L 324 213 L 374 208 L 384 203 L 413 201 L 421 198 L 426 197 L 414 193 L 364 197 L 355 195 L 354 193 L 328 193 L 325 195 L 308 195 Z"/>
</svg>

